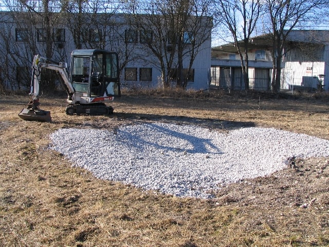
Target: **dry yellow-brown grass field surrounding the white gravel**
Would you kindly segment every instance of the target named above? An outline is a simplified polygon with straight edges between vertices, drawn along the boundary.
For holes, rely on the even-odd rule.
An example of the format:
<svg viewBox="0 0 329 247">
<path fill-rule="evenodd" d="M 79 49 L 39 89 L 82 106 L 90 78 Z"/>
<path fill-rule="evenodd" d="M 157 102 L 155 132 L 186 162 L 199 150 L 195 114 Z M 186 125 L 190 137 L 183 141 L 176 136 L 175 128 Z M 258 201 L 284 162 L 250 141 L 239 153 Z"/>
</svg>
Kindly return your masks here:
<svg viewBox="0 0 329 247">
<path fill-rule="evenodd" d="M 59 128 L 144 121 L 221 131 L 275 127 L 329 139 L 327 95 L 135 92 L 113 102 L 113 116 L 68 116 L 65 97 L 42 99 L 51 123 L 17 116 L 25 96 L 2 95 L 0 102 L 2 246 L 329 245 L 325 158 L 297 160 L 269 177 L 224 187 L 214 200 L 196 200 L 96 179 L 48 149 Z"/>
</svg>

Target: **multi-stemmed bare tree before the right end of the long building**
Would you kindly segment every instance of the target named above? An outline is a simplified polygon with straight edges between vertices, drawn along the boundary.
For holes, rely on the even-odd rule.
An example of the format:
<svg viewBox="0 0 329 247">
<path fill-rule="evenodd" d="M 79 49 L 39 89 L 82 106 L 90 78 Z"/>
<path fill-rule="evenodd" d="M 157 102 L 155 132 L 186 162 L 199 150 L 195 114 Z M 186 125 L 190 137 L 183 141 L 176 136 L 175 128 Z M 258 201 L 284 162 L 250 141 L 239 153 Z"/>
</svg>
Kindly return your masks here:
<svg viewBox="0 0 329 247">
<path fill-rule="evenodd" d="M 129 2 L 131 23 L 143 38 L 141 49 L 155 58 L 149 62 L 161 71 L 163 87 L 171 86 L 175 80 L 177 87 L 186 88 L 195 57 L 210 40 L 210 3 L 210 0 Z"/>
</svg>

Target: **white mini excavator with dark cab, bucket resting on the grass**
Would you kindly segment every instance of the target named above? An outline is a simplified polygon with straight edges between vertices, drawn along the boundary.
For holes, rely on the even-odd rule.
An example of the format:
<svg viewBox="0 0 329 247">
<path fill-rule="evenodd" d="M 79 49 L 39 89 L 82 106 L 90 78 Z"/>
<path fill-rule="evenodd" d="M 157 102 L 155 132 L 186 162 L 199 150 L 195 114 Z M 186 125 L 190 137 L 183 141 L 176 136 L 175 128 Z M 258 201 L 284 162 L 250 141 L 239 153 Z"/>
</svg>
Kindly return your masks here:
<svg viewBox="0 0 329 247">
<path fill-rule="evenodd" d="M 19 117 L 23 120 L 51 121 L 49 111 L 39 108 L 39 87 L 44 69 L 56 71 L 67 93 L 66 114 L 107 115 L 113 108 L 105 102 L 120 96 L 119 59 L 116 52 L 78 49 L 71 52 L 70 73 L 67 63 L 35 55 L 32 63 L 30 102 Z"/>
</svg>

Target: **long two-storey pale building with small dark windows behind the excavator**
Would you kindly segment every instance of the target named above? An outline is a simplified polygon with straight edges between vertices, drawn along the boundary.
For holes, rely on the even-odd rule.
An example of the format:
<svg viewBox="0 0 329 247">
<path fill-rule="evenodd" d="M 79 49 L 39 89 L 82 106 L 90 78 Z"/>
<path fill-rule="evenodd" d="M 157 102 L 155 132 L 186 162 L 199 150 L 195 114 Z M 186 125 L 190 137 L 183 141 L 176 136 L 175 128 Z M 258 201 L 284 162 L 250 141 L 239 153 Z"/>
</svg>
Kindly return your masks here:
<svg viewBox="0 0 329 247">
<path fill-rule="evenodd" d="M 84 14 L 80 24 L 75 23 L 78 20 L 77 14 L 69 17 L 67 13 L 52 15 L 57 15 L 56 24 L 51 24 L 49 28 L 44 20 L 40 21 L 40 17 L 33 17 L 31 13 L 0 12 L 1 80 L 8 85 L 9 90 L 29 85 L 31 60 L 35 54 L 69 64 L 70 53 L 74 49 L 107 49 L 118 52 L 123 87 L 159 86 L 163 72 L 160 59 L 165 62 L 171 59 L 172 62 L 168 63 L 170 68 L 165 64 L 166 73 L 169 75 L 170 70 L 170 83 L 176 83 L 177 44 L 170 42 L 170 38 L 159 41 L 157 27 L 153 29 L 150 26 L 148 30 L 138 28 L 131 23 L 131 19 L 127 19 L 127 14 L 101 13 L 96 17 Z M 191 25 L 183 34 L 182 74 L 188 73 L 187 89 L 209 87 L 211 19 L 205 16 L 202 18 L 198 23 L 206 32 L 197 32 L 195 26 Z M 165 27 L 162 28 L 165 30 Z M 161 52 L 160 56 L 156 56 L 148 46 L 150 39 L 154 48 Z M 161 43 L 163 40 L 165 43 Z M 172 50 L 175 52 L 171 52 Z M 194 59 L 192 66 L 191 57 Z"/>
</svg>

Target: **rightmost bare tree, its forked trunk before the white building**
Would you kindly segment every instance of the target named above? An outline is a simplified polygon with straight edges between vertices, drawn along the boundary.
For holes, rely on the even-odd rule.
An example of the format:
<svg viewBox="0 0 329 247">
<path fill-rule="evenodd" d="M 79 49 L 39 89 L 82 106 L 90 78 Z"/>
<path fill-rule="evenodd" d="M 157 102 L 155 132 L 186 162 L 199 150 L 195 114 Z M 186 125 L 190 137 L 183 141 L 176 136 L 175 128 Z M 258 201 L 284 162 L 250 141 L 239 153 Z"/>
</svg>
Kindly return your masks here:
<svg viewBox="0 0 329 247">
<path fill-rule="evenodd" d="M 281 63 L 284 57 L 284 47 L 291 30 L 298 25 L 312 21 L 327 6 L 327 0 L 266 0 L 266 13 L 270 21 L 272 34 L 272 90 L 280 91 Z"/>
</svg>

